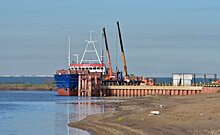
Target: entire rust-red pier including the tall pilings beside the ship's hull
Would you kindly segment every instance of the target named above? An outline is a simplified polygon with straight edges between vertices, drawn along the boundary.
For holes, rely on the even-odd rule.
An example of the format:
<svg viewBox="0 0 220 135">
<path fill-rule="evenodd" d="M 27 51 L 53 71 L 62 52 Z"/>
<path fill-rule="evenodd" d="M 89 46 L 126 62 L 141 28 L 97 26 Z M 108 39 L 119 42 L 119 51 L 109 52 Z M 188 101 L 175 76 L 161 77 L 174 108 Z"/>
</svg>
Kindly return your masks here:
<svg viewBox="0 0 220 135">
<path fill-rule="evenodd" d="M 193 95 L 217 93 L 220 87 L 204 86 L 141 86 L 141 85 L 103 85 L 97 75 L 80 75 L 78 96 L 95 97 L 142 97 L 147 95 Z"/>
</svg>

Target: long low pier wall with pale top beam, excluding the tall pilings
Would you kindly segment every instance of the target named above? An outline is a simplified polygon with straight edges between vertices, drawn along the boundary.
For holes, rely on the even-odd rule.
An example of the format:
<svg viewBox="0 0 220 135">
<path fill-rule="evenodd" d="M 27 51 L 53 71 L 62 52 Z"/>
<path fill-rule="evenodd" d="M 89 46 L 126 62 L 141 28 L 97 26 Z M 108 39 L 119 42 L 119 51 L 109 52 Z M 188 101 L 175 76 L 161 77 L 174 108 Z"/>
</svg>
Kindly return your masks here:
<svg viewBox="0 0 220 135">
<path fill-rule="evenodd" d="M 202 93 L 199 86 L 101 86 L 102 96 L 142 97 L 147 95 L 192 95 Z"/>
</svg>

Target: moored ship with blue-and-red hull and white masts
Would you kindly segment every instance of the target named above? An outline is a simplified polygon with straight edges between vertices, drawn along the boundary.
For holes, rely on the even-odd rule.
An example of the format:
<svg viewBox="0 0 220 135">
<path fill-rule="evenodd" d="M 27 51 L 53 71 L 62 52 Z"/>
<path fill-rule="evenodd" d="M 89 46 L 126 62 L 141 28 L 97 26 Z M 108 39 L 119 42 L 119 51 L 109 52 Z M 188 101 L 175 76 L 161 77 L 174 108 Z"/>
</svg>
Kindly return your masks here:
<svg viewBox="0 0 220 135">
<path fill-rule="evenodd" d="M 87 46 L 80 63 L 78 63 L 78 55 L 77 62 L 70 63 L 70 37 L 68 38 L 68 70 L 57 70 L 54 75 L 59 96 L 78 95 L 79 74 L 102 74 L 105 72 L 105 65 L 98 55 L 95 46 L 96 41 L 92 40 L 91 32 L 90 40 L 86 40 L 86 42 Z"/>
</svg>

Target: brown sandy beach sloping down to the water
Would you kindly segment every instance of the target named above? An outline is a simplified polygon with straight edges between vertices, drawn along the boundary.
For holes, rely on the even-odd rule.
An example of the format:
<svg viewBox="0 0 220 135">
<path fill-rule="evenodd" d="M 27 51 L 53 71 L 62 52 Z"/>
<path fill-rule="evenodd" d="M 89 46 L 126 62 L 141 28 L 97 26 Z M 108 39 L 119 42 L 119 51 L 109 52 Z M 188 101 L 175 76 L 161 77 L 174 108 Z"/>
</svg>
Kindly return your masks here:
<svg viewBox="0 0 220 135">
<path fill-rule="evenodd" d="M 220 134 L 220 94 L 147 96 L 123 100 L 106 103 L 116 107 L 114 112 L 91 115 L 82 121 L 69 123 L 69 126 L 95 135 Z M 159 111 L 159 114 L 154 115 L 150 111 Z"/>
</svg>

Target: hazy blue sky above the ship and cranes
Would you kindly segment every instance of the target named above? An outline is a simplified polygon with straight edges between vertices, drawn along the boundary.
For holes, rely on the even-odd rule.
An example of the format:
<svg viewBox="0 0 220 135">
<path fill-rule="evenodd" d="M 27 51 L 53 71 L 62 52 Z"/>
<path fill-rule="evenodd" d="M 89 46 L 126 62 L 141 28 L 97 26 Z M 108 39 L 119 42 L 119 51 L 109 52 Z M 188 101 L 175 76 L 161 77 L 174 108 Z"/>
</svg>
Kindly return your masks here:
<svg viewBox="0 0 220 135">
<path fill-rule="evenodd" d="M 130 74 L 219 74 L 218 0 L 1 0 L 0 75 L 65 69 L 68 34 L 72 53 L 82 56 L 88 31 L 94 31 L 97 48 L 103 45 L 103 27 L 112 63 L 117 59 L 122 70 L 117 20 Z"/>
</svg>

